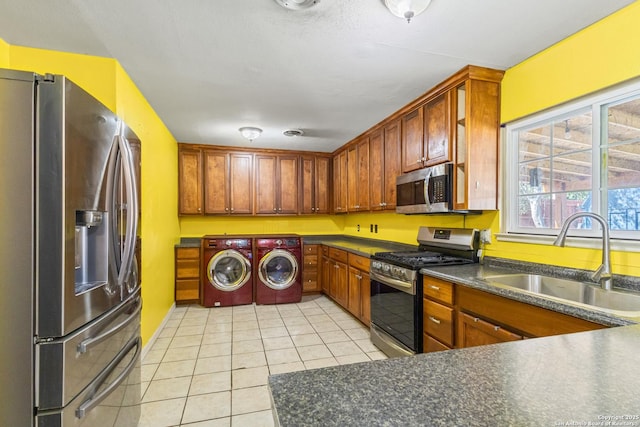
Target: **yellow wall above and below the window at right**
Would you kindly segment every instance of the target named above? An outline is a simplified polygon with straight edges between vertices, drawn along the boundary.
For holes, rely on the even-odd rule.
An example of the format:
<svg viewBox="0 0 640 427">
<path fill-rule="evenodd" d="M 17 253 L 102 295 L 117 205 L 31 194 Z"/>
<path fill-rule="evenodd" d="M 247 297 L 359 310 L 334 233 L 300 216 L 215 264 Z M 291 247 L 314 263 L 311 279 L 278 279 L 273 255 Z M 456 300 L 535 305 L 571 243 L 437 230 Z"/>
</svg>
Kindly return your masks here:
<svg viewBox="0 0 640 427">
<path fill-rule="evenodd" d="M 597 22 L 506 71 L 502 121 L 535 113 L 640 76 L 640 2 Z M 498 222 L 493 224 L 499 230 Z M 539 263 L 594 269 L 599 250 L 494 241 L 487 254 Z M 640 254 L 612 253 L 613 271 L 640 276 Z"/>
</svg>

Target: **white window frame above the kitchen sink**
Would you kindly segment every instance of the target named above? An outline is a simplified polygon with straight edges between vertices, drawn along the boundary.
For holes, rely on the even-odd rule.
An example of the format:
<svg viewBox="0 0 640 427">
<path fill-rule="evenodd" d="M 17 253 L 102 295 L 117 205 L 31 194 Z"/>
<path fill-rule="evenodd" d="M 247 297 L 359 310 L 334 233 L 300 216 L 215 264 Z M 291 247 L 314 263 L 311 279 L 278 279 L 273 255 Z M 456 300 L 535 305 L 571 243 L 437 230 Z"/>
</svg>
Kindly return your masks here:
<svg viewBox="0 0 640 427">
<path fill-rule="evenodd" d="M 602 197 L 603 192 L 606 193 L 607 189 L 601 189 L 602 173 L 606 174 L 606 169 L 603 170 L 604 151 L 607 149 L 607 126 L 602 121 L 603 112 L 608 106 L 618 105 L 625 100 L 631 100 L 632 98 L 640 98 L 640 79 L 634 79 L 632 81 L 598 91 L 596 93 L 551 107 L 549 109 L 534 113 L 522 119 L 515 120 L 505 124 L 504 132 L 502 133 L 502 155 L 505 159 L 505 166 L 503 169 L 502 188 L 502 208 L 503 215 L 501 215 L 501 233 L 498 235 L 499 240 L 526 242 L 526 243 L 541 243 L 551 242 L 557 236 L 559 229 L 533 229 L 523 228 L 518 225 L 518 195 L 519 195 L 519 145 L 518 145 L 518 132 L 525 129 L 532 129 L 537 126 L 553 125 L 554 122 L 566 120 L 576 114 L 584 112 L 585 110 L 591 110 L 592 117 L 592 132 L 591 132 L 591 152 L 592 152 L 592 206 L 593 212 L 603 213 L 603 202 L 606 203 L 605 197 Z M 604 145 L 603 142 L 604 141 Z M 604 200 L 603 200 L 604 199 Z M 606 207 L 605 207 L 606 208 Z M 601 237 L 599 227 L 595 227 L 591 230 L 577 230 L 571 229 L 569 236 L 573 236 L 567 243 L 571 246 L 578 247 L 592 247 L 596 239 Z M 611 230 L 612 240 L 618 241 L 615 247 L 623 250 L 631 249 L 633 251 L 640 251 L 640 231 L 630 230 Z M 573 244 L 572 244 L 573 241 Z M 595 247 L 595 246 L 593 246 Z"/>
</svg>

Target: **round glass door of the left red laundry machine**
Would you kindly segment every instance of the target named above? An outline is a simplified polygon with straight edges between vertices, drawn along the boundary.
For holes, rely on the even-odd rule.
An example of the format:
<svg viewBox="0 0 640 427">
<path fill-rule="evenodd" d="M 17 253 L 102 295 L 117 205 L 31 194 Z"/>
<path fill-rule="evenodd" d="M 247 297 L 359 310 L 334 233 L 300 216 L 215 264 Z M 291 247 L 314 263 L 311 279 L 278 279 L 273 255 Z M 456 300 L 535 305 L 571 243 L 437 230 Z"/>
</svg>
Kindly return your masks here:
<svg viewBox="0 0 640 427">
<path fill-rule="evenodd" d="M 235 249 L 225 249 L 211 257 L 207 278 L 216 289 L 235 291 L 251 278 L 251 263 Z"/>
</svg>

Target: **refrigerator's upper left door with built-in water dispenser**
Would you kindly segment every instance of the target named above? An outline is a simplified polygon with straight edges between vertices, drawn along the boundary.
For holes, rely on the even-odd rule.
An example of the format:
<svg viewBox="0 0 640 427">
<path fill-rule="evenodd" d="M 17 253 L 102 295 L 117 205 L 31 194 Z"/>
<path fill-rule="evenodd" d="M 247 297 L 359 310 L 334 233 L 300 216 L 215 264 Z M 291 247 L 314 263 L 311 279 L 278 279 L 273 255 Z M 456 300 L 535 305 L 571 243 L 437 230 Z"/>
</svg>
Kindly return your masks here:
<svg viewBox="0 0 640 427">
<path fill-rule="evenodd" d="M 123 186 L 135 186 L 135 177 L 122 172 L 131 162 L 121 135 L 124 124 L 63 76 L 50 80 L 38 82 L 36 91 L 35 332 L 40 338 L 65 336 L 122 301 L 126 275 L 114 264 L 121 262 L 113 258 L 121 256 L 114 250 L 121 244 L 115 241 L 114 209 L 137 209 L 112 200 L 120 176 Z"/>
</svg>

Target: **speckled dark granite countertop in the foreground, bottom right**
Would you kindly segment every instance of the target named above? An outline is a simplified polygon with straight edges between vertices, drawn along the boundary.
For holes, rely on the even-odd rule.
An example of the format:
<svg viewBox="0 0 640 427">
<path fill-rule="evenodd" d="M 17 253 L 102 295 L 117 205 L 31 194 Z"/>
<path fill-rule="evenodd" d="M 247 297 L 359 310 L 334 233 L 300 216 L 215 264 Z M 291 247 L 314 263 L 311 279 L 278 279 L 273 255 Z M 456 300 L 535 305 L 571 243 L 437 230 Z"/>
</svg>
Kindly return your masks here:
<svg viewBox="0 0 640 427">
<path fill-rule="evenodd" d="M 282 427 L 639 426 L 638 366 L 633 325 L 277 374 L 269 389 Z"/>
</svg>

